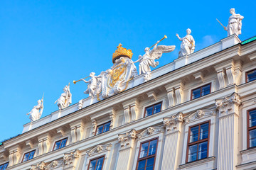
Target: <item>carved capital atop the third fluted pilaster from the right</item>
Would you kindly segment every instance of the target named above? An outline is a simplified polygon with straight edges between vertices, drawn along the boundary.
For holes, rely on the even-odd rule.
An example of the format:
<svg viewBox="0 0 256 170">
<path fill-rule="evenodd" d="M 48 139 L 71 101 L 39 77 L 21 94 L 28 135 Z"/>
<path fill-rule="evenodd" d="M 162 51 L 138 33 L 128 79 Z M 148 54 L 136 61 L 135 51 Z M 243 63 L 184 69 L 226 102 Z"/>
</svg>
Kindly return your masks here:
<svg viewBox="0 0 256 170">
<path fill-rule="evenodd" d="M 129 132 L 118 134 L 118 141 L 122 147 L 131 146 L 132 140 L 136 138 L 136 130 L 132 129 Z"/>
</svg>

